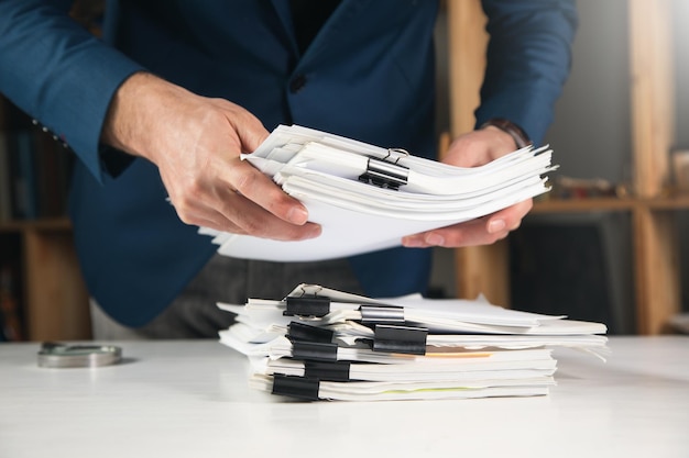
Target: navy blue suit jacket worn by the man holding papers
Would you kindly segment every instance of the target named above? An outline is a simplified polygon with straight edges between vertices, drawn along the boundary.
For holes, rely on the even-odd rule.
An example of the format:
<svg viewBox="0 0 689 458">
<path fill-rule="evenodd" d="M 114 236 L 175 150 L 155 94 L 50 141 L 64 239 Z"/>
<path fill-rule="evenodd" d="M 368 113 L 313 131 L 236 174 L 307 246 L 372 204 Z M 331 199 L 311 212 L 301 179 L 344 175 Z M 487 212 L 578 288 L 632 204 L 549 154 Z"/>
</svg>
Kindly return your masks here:
<svg viewBox="0 0 689 458">
<path fill-rule="evenodd" d="M 70 1 L 0 0 L 0 92 L 78 155 L 70 214 L 89 292 L 142 325 L 216 246 L 165 201 L 155 166 L 100 147 L 109 102 L 149 70 L 281 123 L 433 157 L 437 1 L 343 0 L 304 55 L 286 0 L 108 0 L 102 40 Z M 484 0 L 491 44 L 478 123 L 507 118 L 540 142 L 570 65 L 573 0 Z M 298 90 L 295 80 L 300 80 Z M 350 259 L 373 297 L 424 292 L 430 252 Z"/>
</svg>

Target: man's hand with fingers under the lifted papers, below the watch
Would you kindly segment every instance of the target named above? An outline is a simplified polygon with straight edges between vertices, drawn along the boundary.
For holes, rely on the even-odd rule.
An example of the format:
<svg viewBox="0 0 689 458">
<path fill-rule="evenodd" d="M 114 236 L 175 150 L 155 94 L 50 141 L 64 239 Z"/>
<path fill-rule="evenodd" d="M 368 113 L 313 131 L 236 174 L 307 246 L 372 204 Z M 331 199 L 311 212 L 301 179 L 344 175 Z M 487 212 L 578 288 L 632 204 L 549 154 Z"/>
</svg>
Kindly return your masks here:
<svg viewBox="0 0 689 458">
<path fill-rule="evenodd" d="M 507 133 L 490 126 L 455 139 L 444 161 L 460 167 L 477 167 L 515 149 L 516 144 Z M 402 244 L 415 248 L 490 245 L 520 227 L 532 206 L 533 200 L 528 199 L 484 217 L 406 236 Z"/>
</svg>

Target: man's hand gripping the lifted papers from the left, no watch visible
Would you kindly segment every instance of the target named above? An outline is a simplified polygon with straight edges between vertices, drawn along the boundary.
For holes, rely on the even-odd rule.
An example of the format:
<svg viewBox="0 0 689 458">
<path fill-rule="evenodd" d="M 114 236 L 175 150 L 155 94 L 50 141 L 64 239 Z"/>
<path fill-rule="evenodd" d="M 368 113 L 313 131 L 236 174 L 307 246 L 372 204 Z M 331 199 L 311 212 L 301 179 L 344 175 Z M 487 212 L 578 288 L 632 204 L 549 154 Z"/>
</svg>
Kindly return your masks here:
<svg viewBox="0 0 689 458">
<path fill-rule="evenodd" d="M 306 208 L 240 159 L 269 132 L 243 108 L 135 74 L 110 105 L 101 139 L 155 164 L 179 219 L 236 234 L 297 241 L 320 235 Z"/>
</svg>

